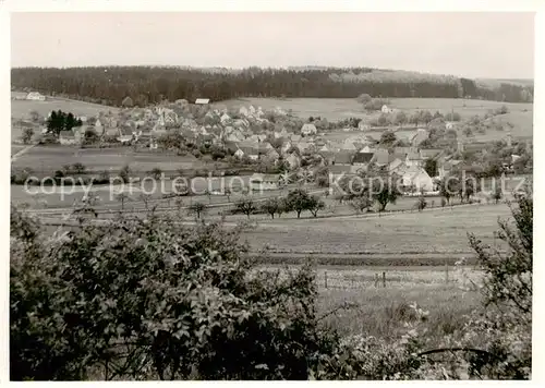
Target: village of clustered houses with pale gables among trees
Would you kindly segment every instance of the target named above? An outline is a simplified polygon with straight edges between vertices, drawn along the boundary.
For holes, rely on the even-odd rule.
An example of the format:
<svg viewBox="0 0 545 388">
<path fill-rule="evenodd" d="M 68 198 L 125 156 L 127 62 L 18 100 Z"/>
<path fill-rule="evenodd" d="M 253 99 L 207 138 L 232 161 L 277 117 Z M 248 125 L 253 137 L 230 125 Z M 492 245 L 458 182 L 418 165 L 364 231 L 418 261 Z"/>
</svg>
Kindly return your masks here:
<svg viewBox="0 0 545 388">
<path fill-rule="evenodd" d="M 43 98 L 37 93 L 27 97 L 33 100 Z M 128 105 L 132 105 L 130 102 Z M 382 111 L 392 113 L 392 109 L 386 106 Z M 203 113 L 201 118 L 204 120 L 196 119 Z M 275 123 L 270 122 L 271 117 L 276 118 Z M 328 131 L 318 130 L 315 123 L 293 118 L 280 108 L 265 112 L 261 107 L 243 106 L 233 111 L 215 108 L 208 99 L 196 99 L 193 104 L 178 100 L 149 108 L 124 107 L 117 112 L 100 112 L 97 117 L 80 119 L 82 126 L 60 132 L 58 142 L 61 145 L 82 146 L 86 133 L 90 131 L 101 146 L 140 146 L 161 153 L 161 137 L 177 133 L 196 144 L 225 149 L 231 158 L 245 161 L 249 166 L 253 162 L 282 163 L 291 172 L 304 170 L 310 174 L 327 166 L 330 177 L 336 177 L 358 174 L 373 165 L 402 177 L 403 186 L 410 187 L 405 191 L 407 195 L 437 194 L 438 180 L 462 162 L 444 149 L 421 147 L 429 134 L 425 125 L 400 131 L 403 135 L 398 135 L 398 140 L 402 140 L 404 146 L 386 147 L 379 144 L 376 129 L 364 120 L 359 122 L 358 128 L 339 129 L 337 132 L 341 132 L 342 136 L 329 136 Z M 300 126 L 293 126 L 293 123 Z M 456 123 L 445 123 L 446 129 L 453 125 Z M 368 134 L 373 130 L 374 136 Z M 43 134 L 46 133 L 47 129 L 43 129 Z M 463 146 L 458 142 L 459 151 L 463 150 Z M 311 163 L 303 162 L 305 156 L 312 158 Z M 436 160 L 436 177 L 431 177 L 424 169 L 427 159 Z M 256 172 L 251 183 L 254 190 L 274 190 L 282 185 L 280 173 Z"/>
</svg>

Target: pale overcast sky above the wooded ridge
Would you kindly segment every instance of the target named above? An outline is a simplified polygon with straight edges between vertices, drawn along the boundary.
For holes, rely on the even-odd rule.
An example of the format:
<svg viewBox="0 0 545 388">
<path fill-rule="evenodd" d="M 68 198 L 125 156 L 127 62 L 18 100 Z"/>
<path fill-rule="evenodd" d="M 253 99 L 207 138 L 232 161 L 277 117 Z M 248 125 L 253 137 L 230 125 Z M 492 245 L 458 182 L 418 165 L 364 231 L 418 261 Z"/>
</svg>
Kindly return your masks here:
<svg viewBox="0 0 545 388">
<path fill-rule="evenodd" d="M 373 66 L 533 78 L 532 13 L 13 13 L 12 66 Z"/>
</svg>

